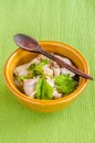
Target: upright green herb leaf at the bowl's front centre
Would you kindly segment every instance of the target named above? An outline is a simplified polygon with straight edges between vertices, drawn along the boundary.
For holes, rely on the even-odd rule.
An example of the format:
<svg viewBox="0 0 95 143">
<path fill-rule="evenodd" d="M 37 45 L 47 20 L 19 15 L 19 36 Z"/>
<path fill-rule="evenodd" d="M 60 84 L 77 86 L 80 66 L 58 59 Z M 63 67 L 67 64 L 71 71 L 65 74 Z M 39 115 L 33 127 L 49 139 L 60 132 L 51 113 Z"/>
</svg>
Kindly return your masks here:
<svg viewBox="0 0 95 143">
<path fill-rule="evenodd" d="M 35 98 L 38 99 L 52 99 L 53 87 L 51 87 L 44 77 L 40 78 L 35 87 Z"/>
</svg>

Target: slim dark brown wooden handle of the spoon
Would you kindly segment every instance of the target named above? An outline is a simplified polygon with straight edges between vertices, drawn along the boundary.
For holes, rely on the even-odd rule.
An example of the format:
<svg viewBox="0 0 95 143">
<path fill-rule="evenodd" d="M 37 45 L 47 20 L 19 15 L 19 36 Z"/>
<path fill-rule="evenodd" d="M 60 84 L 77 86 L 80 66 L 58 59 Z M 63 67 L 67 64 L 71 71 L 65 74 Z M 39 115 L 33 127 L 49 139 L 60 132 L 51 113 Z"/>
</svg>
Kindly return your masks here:
<svg viewBox="0 0 95 143">
<path fill-rule="evenodd" d="M 74 66 L 68 65 L 67 63 L 65 63 L 65 62 L 61 61 L 60 58 L 53 56 L 49 52 L 46 52 L 46 51 L 44 51 L 44 50 L 41 48 L 41 51 L 39 53 L 42 54 L 42 55 L 44 55 L 44 56 L 46 56 L 46 57 L 49 57 L 49 58 L 51 58 L 52 61 L 56 62 L 60 66 L 65 67 L 68 70 L 73 72 L 73 73 L 75 73 L 77 75 L 80 75 L 81 77 L 93 80 L 92 76 L 83 73 L 82 70 L 75 68 Z"/>
</svg>

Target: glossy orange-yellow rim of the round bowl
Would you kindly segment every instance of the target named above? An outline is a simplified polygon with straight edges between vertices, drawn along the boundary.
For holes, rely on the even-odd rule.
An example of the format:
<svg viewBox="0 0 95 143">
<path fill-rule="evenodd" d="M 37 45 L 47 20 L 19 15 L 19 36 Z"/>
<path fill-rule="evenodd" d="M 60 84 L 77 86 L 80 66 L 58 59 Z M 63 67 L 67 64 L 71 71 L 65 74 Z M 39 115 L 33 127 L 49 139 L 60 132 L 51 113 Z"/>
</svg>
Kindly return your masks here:
<svg viewBox="0 0 95 143">
<path fill-rule="evenodd" d="M 77 54 L 85 63 L 85 70 L 86 74 L 89 74 L 89 67 L 88 64 L 85 59 L 85 57 L 74 47 L 61 43 L 61 42 L 55 42 L 55 41 L 40 41 L 39 44 L 51 44 L 51 45 L 61 45 L 65 46 L 65 48 L 71 48 L 75 54 Z M 7 86 L 9 87 L 9 89 L 14 94 L 15 97 L 27 101 L 27 102 L 31 102 L 31 103 L 35 103 L 35 105 L 41 105 L 41 106 L 46 106 L 46 105 L 57 105 L 57 103 L 62 103 L 62 102 L 67 102 L 72 99 L 74 99 L 75 97 L 80 96 L 80 94 L 84 90 L 84 88 L 87 86 L 88 84 L 88 79 L 82 78 L 82 84 L 78 86 L 78 88 L 76 88 L 73 92 L 68 94 L 67 96 L 64 96 L 62 98 L 59 99 L 54 99 L 54 100 L 40 100 L 40 99 L 32 99 L 31 97 L 25 96 L 24 94 L 22 94 L 10 80 L 9 76 L 8 76 L 8 68 L 9 68 L 9 64 L 11 63 L 12 58 L 15 56 L 15 54 L 22 51 L 22 48 L 18 47 L 18 50 L 15 50 L 13 53 L 11 53 L 11 55 L 8 57 L 6 64 L 4 64 L 4 72 L 3 72 L 3 76 L 4 76 L 4 81 L 7 84 Z"/>
</svg>

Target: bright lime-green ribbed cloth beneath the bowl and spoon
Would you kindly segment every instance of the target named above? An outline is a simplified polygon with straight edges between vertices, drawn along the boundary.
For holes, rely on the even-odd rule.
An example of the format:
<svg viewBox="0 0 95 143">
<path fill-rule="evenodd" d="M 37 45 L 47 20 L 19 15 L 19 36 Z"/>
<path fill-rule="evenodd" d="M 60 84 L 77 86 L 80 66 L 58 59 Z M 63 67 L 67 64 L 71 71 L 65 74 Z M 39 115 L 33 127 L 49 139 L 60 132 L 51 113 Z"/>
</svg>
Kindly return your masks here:
<svg viewBox="0 0 95 143">
<path fill-rule="evenodd" d="M 54 113 L 22 107 L 7 88 L 3 66 L 17 33 L 74 46 L 95 77 L 95 0 L 0 0 L 0 143 L 95 143 L 95 81 Z"/>
</svg>

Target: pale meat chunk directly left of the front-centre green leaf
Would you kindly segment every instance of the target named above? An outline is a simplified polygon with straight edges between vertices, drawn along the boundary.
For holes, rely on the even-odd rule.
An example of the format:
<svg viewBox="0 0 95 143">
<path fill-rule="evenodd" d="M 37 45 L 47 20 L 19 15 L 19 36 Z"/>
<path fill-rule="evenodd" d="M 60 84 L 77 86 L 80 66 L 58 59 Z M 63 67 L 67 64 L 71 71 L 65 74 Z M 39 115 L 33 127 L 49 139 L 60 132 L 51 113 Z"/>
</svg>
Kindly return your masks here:
<svg viewBox="0 0 95 143">
<path fill-rule="evenodd" d="M 35 95 L 35 85 L 38 82 L 38 78 L 34 79 L 25 79 L 23 81 L 23 90 L 27 94 L 27 96 L 34 98 Z"/>
</svg>

